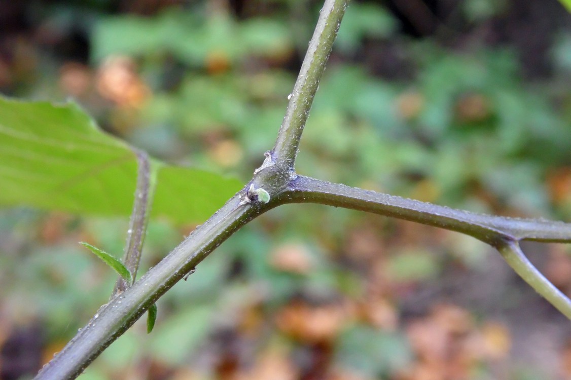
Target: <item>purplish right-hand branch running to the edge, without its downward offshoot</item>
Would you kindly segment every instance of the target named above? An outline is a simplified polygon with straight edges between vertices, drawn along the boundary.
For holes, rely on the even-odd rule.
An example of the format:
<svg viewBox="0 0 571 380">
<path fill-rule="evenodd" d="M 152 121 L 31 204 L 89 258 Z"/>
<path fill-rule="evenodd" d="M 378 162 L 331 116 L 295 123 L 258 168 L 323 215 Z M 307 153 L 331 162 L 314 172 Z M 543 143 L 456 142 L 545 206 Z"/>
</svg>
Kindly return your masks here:
<svg viewBox="0 0 571 380">
<path fill-rule="evenodd" d="M 287 203 L 320 203 L 397 217 L 462 232 L 492 245 L 505 239 L 571 242 L 569 223 L 481 215 L 304 176 L 289 184 Z"/>
</svg>

